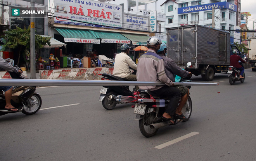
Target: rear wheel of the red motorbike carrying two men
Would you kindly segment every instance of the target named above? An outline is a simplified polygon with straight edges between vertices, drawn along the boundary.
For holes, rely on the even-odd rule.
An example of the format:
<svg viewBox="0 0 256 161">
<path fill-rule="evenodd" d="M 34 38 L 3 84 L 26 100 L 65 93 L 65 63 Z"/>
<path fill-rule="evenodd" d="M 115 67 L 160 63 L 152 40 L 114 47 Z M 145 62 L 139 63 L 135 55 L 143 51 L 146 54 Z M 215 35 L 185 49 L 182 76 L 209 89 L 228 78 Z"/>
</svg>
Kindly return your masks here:
<svg viewBox="0 0 256 161">
<path fill-rule="evenodd" d="M 156 112 L 154 112 L 154 108 L 146 107 L 145 114 L 143 119 L 139 120 L 140 132 L 145 137 L 151 137 L 156 135 L 158 129 L 150 129 L 149 125 L 153 124 L 152 120 L 156 117 Z"/>
</svg>

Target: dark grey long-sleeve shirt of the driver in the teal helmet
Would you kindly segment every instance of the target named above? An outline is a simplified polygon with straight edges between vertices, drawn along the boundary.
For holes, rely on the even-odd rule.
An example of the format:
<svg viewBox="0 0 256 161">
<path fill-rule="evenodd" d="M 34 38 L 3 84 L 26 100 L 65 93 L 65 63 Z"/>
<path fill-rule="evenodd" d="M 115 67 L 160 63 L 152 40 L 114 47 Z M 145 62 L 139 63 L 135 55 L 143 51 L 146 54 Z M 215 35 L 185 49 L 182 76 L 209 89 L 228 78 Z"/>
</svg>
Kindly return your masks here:
<svg viewBox="0 0 256 161">
<path fill-rule="evenodd" d="M 164 59 L 164 70 L 166 75 L 171 81 L 175 81 L 175 76 L 178 75 L 180 77 L 187 77 L 189 76 L 189 72 L 183 70 L 182 68 L 178 67 L 177 64 L 173 61 L 173 59 L 166 58 L 164 55 L 159 55 L 161 58 Z"/>
</svg>

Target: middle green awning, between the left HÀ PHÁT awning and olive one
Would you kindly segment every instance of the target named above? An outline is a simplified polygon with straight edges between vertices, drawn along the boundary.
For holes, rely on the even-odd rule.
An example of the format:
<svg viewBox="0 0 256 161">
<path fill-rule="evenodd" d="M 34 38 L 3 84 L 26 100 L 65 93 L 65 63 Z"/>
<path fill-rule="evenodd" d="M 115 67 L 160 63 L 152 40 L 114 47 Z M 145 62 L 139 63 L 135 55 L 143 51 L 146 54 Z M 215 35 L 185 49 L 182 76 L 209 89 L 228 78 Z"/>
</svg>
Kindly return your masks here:
<svg viewBox="0 0 256 161">
<path fill-rule="evenodd" d="M 90 33 L 93 36 L 101 39 L 102 43 L 120 43 L 120 44 L 130 44 L 131 41 L 127 39 L 125 36 L 117 33 L 117 32 L 103 32 L 103 31 L 92 31 Z"/>
</svg>

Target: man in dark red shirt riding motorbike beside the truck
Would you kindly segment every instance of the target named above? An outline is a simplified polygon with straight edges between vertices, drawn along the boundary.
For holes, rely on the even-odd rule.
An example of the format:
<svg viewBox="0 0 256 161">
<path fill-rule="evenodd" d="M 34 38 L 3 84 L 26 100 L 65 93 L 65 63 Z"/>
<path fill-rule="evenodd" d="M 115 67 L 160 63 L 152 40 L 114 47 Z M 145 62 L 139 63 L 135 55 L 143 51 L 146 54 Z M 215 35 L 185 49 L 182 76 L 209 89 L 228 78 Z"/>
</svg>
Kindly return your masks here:
<svg viewBox="0 0 256 161">
<path fill-rule="evenodd" d="M 230 56 L 230 66 L 234 66 L 235 68 L 237 68 L 238 70 L 240 70 L 240 76 L 239 78 L 244 78 L 243 74 L 244 74 L 244 67 L 241 66 L 239 64 L 239 60 L 243 63 L 246 63 L 246 61 L 244 61 L 240 56 L 237 55 L 238 51 L 237 49 L 233 50 L 233 55 Z"/>
</svg>

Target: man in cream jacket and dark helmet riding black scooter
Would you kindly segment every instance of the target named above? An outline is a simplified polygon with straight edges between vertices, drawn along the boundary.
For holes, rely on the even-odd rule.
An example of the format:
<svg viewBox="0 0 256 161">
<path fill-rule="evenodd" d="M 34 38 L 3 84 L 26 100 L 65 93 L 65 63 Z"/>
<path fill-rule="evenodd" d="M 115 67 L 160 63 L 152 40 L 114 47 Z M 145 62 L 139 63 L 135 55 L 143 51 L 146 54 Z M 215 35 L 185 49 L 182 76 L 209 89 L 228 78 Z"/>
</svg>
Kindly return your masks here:
<svg viewBox="0 0 256 161">
<path fill-rule="evenodd" d="M 130 56 L 127 54 L 129 53 L 131 47 L 127 44 L 123 44 L 121 46 L 121 53 L 116 54 L 115 64 L 113 75 L 119 76 L 124 80 L 136 81 L 136 75 L 131 74 L 131 70 L 129 66 L 135 70 L 137 70 L 137 64 L 135 64 Z"/>
</svg>

